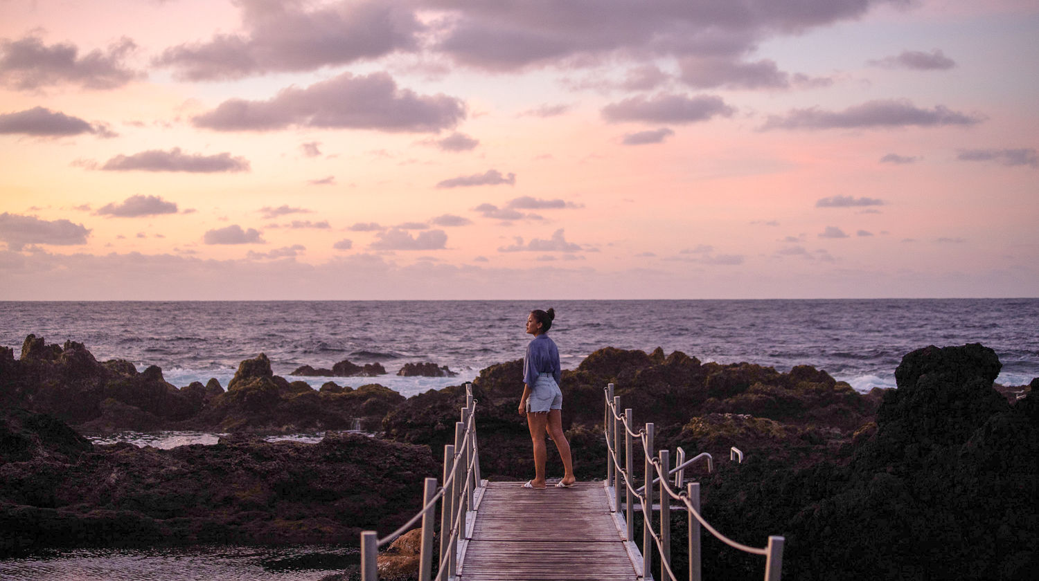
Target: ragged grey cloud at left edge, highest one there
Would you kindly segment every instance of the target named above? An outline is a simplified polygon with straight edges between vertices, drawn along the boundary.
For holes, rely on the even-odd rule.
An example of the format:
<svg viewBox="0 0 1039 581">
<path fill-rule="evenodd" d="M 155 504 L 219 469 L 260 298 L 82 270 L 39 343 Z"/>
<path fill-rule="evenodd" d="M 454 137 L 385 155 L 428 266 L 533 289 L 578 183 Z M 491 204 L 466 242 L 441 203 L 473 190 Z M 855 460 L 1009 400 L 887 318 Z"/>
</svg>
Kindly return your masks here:
<svg viewBox="0 0 1039 581">
<path fill-rule="evenodd" d="M 123 61 L 137 46 L 129 38 L 79 56 L 71 44 L 46 46 L 36 36 L 21 40 L 0 40 L 0 85 L 16 90 L 73 84 L 88 89 L 121 87 L 141 74 L 127 68 Z"/>
</svg>

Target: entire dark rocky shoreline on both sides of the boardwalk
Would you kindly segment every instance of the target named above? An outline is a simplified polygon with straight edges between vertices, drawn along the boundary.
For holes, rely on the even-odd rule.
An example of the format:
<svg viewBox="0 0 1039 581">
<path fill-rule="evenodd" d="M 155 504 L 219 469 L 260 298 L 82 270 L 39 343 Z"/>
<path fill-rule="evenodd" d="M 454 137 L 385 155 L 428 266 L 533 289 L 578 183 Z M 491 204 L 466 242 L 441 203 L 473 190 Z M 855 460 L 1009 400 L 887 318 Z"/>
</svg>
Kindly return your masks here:
<svg viewBox="0 0 1039 581">
<path fill-rule="evenodd" d="M 616 384 L 635 421 L 655 422 L 658 448 L 715 457 L 715 473 L 691 474 L 712 524 L 744 542 L 787 536 L 785 578 L 1025 578 L 1039 564 L 1039 380 L 997 392 L 1000 366 L 982 345 L 927 348 L 903 359 L 898 389 L 863 395 L 808 366 L 781 374 L 606 348 L 564 371 L 563 423 L 578 477 L 604 477 L 603 387 Z M 492 365 L 474 381 L 491 479 L 533 471 L 515 410 L 521 369 L 522 361 Z M 316 391 L 274 376 L 263 355 L 243 361 L 227 391 L 214 384 L 178 389 L 158 367 L 98 362 L 73 341 L 30 335 L 18 360 L 0 348 L 0 555 L 356 544 L 361 528 L 385 533 L 418 509 L 422 478 L 438 475 L 435 459 L 464 402 L 460 386 L 406 399 L 375 384 Z M 336 432 L 357 418 L 380 437 Z M 80 436 L 123 430 L 233 436 L 171 450 Z M 315 431 L 329 432 L 319 444 L 259 437 Z M 747 452 L 742 465 L 725 462 L 734 445 Z M 549 460 L 550 475 L 561 473 Z M 755 559 L 711 543 L 704 571 L 758 575 Z"/>
</svg>

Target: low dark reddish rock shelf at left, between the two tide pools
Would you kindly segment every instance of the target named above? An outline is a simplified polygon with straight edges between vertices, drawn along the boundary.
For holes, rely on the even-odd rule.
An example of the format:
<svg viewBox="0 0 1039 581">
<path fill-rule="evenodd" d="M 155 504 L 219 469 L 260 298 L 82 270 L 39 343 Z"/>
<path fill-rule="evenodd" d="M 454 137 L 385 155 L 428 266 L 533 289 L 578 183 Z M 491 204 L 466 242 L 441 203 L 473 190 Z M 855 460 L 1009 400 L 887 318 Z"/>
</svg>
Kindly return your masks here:
<svg viewBox="0 0 1039 581">
<path fill-rule="evenodd" d="M 373 462 L 377 459 L 377 462 Z M 94 446 L 53 417 L 0 419 L 0 555 L 43 547 L 356 543 L 421 505 L 424 446 L 328 433 L 171 450 Z"/>
</svg>

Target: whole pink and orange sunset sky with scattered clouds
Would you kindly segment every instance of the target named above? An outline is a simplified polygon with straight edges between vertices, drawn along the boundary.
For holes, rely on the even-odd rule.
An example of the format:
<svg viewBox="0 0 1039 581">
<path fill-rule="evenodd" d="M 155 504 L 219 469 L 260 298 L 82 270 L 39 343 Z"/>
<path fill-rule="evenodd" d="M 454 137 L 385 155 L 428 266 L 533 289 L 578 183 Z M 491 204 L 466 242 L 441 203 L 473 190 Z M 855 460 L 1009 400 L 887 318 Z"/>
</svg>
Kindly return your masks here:
<svg viewBox="0 0 1039 581">
<path fill-rule="evenodd" d="M 0 0 L 0 300 L 1035 297 L 1034 0 Z"/>
</svg>

